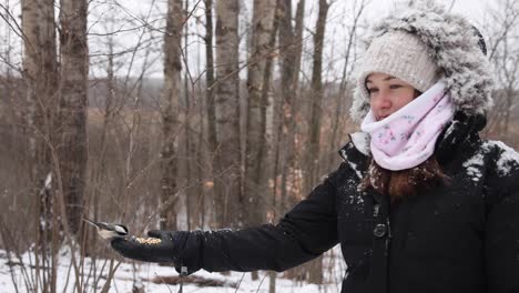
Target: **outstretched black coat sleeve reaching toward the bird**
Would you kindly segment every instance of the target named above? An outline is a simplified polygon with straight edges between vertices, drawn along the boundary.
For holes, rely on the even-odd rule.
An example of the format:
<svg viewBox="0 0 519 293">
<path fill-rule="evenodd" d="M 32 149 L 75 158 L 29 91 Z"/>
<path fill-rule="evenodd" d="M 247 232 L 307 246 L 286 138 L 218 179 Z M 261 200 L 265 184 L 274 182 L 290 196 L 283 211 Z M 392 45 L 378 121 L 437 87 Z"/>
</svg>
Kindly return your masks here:
<svg viewBox="0 0 519 293">
<path fill-rule="evenodd" d="M 285 271 L 337 244 L 335 188 L 326 179 L 276 225 L 176 232 L 174 241 L 177 271 Z"/>
</svg>

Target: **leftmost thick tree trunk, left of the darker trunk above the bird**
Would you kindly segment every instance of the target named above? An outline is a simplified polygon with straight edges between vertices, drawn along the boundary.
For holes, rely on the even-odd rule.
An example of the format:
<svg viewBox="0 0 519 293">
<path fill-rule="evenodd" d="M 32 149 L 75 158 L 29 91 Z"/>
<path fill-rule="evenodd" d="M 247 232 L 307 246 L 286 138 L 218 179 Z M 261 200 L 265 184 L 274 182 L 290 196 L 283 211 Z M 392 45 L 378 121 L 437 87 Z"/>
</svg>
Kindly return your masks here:
<svg viewBox="0 0 519 293">
<path fill-rule="evenodd" d="M 51 171 L 50 133 L 55 115 L 58 63 L 53 0 L 23 0 L 23 78 L 27 87 L 27 119 L 31 179 L 35 191 Z M 40 211 L 50 212 L 50 199 L 41 199 Z"/>
</svg>

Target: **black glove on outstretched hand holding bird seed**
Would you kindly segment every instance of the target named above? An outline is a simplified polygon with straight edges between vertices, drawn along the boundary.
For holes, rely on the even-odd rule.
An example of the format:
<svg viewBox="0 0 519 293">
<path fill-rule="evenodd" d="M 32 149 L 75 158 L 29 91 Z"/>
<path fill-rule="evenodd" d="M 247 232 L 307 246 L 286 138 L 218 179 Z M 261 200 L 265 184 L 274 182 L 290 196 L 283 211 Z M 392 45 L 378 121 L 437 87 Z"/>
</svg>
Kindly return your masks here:
<svg viewBox="0 0 519 293">
<path fill-rule="evenodd" d="M 152 230 L 147 235 L 153 239 L 113 239 L 112 247 L 124 257 L 142 261 L 169 263 L 175 261 L 173 241 L 174 232 Z M 154 240 L 157 239 L 157 240 Z"/>
</svg>

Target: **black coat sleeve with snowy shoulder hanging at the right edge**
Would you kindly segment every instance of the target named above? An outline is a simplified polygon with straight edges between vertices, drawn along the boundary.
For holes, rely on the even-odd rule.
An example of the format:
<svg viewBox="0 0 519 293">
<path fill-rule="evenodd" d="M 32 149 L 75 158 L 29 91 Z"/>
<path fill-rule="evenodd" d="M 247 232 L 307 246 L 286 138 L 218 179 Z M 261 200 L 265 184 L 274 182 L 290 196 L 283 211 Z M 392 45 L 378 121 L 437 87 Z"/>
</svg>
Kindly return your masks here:
<svg viewBox="0 0 519 293">
<path fill-rule="evenodd" d="M 488 292 L 519 292 L 519 155 L 508 146 L 497 152 L 496 176 L 487 193 Z"/>
</svg>

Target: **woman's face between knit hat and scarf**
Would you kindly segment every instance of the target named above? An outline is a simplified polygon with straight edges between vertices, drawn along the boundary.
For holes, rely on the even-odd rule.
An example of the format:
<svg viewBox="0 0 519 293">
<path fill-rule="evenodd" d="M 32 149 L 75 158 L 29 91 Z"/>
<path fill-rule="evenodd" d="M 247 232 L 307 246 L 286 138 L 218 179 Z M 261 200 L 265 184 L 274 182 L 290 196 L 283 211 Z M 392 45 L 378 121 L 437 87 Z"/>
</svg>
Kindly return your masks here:
<svg viewBox="0 0 519 293">
<path fill-rule="evenodd" d="M 366 78 L 369 104 L 377 121 L 395 113 L 417 97 L 409 83 L 386 73 L 372 73 Z"/>
</svg>

